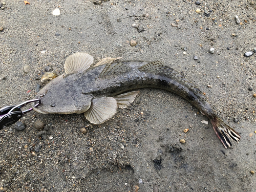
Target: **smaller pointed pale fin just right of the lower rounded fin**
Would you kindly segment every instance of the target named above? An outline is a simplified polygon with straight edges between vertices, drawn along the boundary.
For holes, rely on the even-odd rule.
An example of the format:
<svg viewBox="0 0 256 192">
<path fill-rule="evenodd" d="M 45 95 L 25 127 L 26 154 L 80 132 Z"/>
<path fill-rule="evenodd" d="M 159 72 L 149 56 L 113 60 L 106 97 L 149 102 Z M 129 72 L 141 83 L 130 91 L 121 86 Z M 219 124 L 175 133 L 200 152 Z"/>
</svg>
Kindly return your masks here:
<svg viewBox="0 0 256 192">
<path fill-rule="evenodd" d="M 137 96 L 137 94 L 140 91 L 132 91 L 132 92 L 128 92 L 128 93 L 123 93 L 120 95 L 115 96 L 114 98 L 117 101 L 117 105 L 119 108 L 126 108 L 127 105 L 129 105 L 130 103 L 132 103 L 135 99 L 135 97 Z"/>
</svg>

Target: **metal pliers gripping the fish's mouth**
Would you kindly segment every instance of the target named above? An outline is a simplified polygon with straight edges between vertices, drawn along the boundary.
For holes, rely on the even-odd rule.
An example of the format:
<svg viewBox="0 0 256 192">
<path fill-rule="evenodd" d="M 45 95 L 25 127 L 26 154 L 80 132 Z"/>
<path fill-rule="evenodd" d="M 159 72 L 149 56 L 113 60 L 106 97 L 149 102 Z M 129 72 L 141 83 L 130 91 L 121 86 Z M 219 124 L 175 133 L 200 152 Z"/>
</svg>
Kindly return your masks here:
<svg viewBox="0 0 256 192">
<path fill-rule="evenodd" d="M 25 101 L 18 105 L 12 106 L 5 106 L 4 108 L 0 109 L 0 130 L 4 129 L 5 127 L 16 123 L 20 118 L 23 117 L 24 114 L 32 111 L 33 109 L 30 108 L 26 111 L 20 110 L 23 106 L 27 105 L 28 103 L 36 102 L 35 106 L 38 106 L 41 103 L 40 99 L 33 99 L 29 101 Z"/>
</svg>

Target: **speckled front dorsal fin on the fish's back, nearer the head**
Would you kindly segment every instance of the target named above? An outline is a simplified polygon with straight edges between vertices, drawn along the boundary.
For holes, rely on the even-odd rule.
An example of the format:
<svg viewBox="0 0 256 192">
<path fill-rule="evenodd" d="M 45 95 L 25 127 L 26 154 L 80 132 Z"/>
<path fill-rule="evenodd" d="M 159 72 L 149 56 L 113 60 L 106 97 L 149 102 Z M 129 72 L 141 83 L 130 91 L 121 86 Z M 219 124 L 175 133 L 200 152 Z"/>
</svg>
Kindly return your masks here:
<svg viewBox="0 0 256 192">
<path fill-rule="evenodd" d="M 125 65 L 125 63 L 122 63 L 122 62 L 109 63 L 106 65 L 106 67 L 100 73 L 99 77 L 110 76 L 117 72 L 124 73 L 128 70 L 130 70 L 130 68 L 127 65 Z"/>
</svg>

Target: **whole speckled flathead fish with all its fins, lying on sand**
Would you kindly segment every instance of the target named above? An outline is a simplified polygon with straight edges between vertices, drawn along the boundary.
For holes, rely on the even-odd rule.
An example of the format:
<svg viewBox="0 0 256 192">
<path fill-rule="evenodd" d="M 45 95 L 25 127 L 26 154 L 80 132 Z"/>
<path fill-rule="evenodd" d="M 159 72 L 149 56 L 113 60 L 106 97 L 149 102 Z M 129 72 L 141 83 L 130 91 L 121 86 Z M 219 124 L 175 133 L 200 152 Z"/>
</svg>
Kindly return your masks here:
<svg viewBox="0 0 256 192">
<path fill-rule="evenodd" d="M 92 67 L 93 57 L 75 53 L 65 61 L 65 73 L 50 81 L 36 98 L 41 104 L 33 108 L 39 113 L 84 113 L 91 123 L 101 124 L 132 103 L 139 88 L 157 88 L 176 93 L 206 115 L 223 145 L 231 146 L 230 138 L 240 135 L 225 124 L 211 109 L 203 93 L 184 76 L 161 61 L 116 61 L 104 58 Z"/>
</svg>

